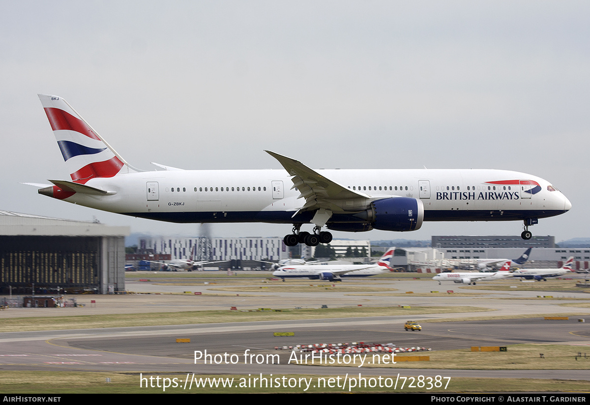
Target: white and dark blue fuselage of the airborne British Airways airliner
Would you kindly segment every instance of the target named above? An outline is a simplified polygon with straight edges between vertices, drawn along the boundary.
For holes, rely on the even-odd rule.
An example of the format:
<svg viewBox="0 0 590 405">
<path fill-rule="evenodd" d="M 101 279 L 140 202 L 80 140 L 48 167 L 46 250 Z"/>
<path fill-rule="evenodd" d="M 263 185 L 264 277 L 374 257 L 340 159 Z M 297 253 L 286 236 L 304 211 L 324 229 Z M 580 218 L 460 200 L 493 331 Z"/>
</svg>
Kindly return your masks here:
<svg viewBox="0 0 590 405">
<path fill-rule="evenodd" d="M 544 179 L 493 169 L 319 170 L 351 190 L 375 197 L 410 197 L 424 204 L 424 221 L 507 221 L 565 213 L 567 198 Z M 135 217 L 176 223 L 308 223 L 313 213 L 292 215 L 303 205 L 283 170 L 151 171 L 92 178 L 86 185 L 114 195 L 60 192 L 70 203 Z M 553 191 L 550 191 L 553 190 Z M 359 198 L 328 223 L 361 223 Z"/>
</svg>

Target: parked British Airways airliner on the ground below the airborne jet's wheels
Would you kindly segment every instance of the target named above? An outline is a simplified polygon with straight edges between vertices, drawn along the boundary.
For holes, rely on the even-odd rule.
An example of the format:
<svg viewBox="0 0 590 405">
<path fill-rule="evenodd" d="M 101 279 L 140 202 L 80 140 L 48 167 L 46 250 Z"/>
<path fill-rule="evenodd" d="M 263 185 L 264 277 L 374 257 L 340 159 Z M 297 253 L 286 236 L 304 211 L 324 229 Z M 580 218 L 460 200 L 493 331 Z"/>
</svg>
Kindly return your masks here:
<svg viewBox="0 0 590 405">
<path fill-rule="evenodd" d="M 389 267 L 395 247 L 390 247 L 375 264 L 300 264 L 284 266 L 273 272 L 273 276 L 285 279 L 303 278 L 310 280 L 341 281 L 340 277 L 369 277 L 391 272 Z"/>
</svg>

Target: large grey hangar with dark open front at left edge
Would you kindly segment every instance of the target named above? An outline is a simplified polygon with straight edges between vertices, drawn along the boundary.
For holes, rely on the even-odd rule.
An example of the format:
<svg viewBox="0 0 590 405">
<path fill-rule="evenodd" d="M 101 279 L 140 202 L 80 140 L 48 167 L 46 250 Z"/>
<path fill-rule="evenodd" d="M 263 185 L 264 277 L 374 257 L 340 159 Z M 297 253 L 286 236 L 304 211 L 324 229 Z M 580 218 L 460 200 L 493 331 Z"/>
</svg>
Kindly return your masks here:
<svg viewBox="0 0 590 405">
<path fill-rule="evenodd" d="M 0 293 L 125 290 L 127 226 L 0 211 Z"/>
</svg>

